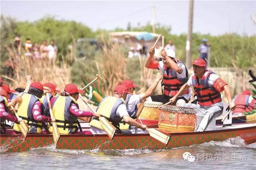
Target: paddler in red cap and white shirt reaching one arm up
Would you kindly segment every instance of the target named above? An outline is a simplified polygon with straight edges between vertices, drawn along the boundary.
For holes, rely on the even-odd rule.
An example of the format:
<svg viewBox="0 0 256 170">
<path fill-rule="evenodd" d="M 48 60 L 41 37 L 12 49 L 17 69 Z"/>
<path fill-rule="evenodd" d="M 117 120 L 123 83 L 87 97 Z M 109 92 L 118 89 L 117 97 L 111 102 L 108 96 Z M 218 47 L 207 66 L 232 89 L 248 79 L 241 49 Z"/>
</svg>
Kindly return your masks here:
<svg viewBox="0 0 256 170">
<path fill-rule="evenodd" d="M 136 113 L 138 111 L 137 104 L 141 103 L 142 101 L 145 101 L 150 95 L 154 93 L 156 90 L 156 87 L 160 80 L 162 80 L 162 74 L 157 73 L 156 79 L 153 82 L 153 84 L 148 88 L 148 90 L 145 93 L 139 94 L 139 95 L 132 95 L 133 91 L 137 85 L 134 85 L 131 80 L 124 80 L 122 81 L 121 85 L 125 85 L 128 92 L 131 94 L 128 94 L 125 100 L 127 112 L 129 113 L 130 117 L 136 118 Z"/>
</svg>

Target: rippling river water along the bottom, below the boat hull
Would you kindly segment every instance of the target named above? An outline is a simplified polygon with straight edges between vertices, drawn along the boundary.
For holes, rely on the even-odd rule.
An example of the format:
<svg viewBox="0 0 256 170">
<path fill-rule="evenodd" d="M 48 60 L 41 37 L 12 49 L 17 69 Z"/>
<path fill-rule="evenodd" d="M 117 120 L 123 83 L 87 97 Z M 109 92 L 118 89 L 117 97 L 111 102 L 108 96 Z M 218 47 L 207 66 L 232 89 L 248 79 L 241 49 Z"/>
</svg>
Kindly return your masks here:
<svg viewBox="0 0 256 170">
<path fill-rule="evenodd" d="M 184 160 L 190 152 L 194 162 Z M 215 160 L 214 160 L 215 158 Z M 229 159 L 229 160 L 228 160 Z M 60 150 L 53 146 L 28 152 L 2 152 L 1 169 L 246 169 L 256 170 L 256 143 L 239 138 L 169 150 Z"/>
</svg>

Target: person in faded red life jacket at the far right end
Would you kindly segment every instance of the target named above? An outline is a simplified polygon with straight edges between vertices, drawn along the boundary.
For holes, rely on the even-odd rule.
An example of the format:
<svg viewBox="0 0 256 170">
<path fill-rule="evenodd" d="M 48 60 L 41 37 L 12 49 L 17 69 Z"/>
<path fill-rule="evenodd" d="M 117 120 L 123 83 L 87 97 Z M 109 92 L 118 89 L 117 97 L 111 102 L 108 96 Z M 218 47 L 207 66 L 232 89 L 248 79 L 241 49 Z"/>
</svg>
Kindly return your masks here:
<svg viewBox="0 0 256 170">
<path fill-rule="evenodd" d="M 249 90 L 244 90 L 241 94 L 234 97 L 236 109 L 232 112 L 233 115 L 243 115 L 243 113 L 248 110 L 248 107 L 250 107 L 250 103 L 253 100 L 250 95 L 251 93 Z"/>
</svg>

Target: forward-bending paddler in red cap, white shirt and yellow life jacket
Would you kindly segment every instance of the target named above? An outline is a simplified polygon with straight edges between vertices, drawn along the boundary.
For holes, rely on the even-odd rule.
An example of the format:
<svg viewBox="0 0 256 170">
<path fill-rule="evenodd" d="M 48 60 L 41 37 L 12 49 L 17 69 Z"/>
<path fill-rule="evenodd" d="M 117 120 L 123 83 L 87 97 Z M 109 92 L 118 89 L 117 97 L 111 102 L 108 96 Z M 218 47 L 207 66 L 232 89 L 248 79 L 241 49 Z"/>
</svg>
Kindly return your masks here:
<svg viewBox="0 0 256 170">
<path fill-rule="evenodd" d="M 125 123 L 128 123 L 131 126 L 135 126 L 145 130 L 146 125 L 141 125 L 138 122 L 132 119 L 126 109 L 125 100 L 128 94 L 131 94 L 125 85 L 117 85 L 114 88 L 114 95 L 105 97 L 99 104 L 96 113 L 101 116 L 106 117 L 117 129 L 118 133 L 121 133 L 119 128 L 119 123 L 124 119 Z M 90 131 L 93 134 L 102 134 L 105 133 L 103 128 L 100 125 L 100 122 L 93 118 L 90 122 Z"/>
</svg>

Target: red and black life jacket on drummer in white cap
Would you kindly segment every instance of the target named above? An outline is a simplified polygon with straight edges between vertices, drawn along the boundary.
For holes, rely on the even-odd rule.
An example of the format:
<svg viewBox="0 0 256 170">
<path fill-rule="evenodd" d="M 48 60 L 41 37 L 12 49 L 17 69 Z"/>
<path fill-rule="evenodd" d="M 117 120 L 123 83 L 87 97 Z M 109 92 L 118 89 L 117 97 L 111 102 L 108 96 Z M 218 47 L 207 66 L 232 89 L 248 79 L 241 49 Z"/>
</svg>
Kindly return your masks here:
<svg viewBox="0 0 256 170">
<path fill-rule="evenodd" d="M 178 63 L 182 63 L 181 61 L 178 61 Z M 183 63 L 182 63 L 183 64 Z M 162 86 L 164 86 L 164 95 L 167 96 L 174 96 L 178 93 L 180 90 L 180 87 L 184 85 L 188 81 L 188 69 L 186 68 L 186 77 L 180 78 L 177 77 L 176 71 L 174 69 L 168 69 L 164 66 L 164 69 L 162 70 L 163 74 L 163 80 L 162 80 Z M 186 90 L 183 94 L 188 94 L 189 90 Z"/>
</svg>

